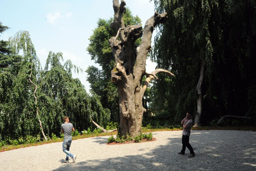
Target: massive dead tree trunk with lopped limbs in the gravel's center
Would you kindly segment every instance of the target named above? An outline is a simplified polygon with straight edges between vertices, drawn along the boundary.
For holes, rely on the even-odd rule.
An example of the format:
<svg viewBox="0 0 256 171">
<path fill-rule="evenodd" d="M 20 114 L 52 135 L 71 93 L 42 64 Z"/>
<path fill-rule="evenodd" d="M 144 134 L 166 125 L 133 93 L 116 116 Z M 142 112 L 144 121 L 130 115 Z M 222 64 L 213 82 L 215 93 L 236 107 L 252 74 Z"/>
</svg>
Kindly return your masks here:
<svg viewBox="0 0 256 171">
<path fill-rule="evenodd" d="M 120 134 L 125 136 L 129 133 L 132 137 L 141 132 L 141 122 L 146 109 L 142 106 L 142 98 L 148 83 L 157 78 L 156 74 L 165 73 L 174 76 L 164 69 L 156 69 L 152 73 L 146 72 L 147 54 L 151 50 L 151 37 L 157 24 L 167 19 L 167 13 L 155 14 L 146 21 L 144 33 L 141 25 L 124 27 L 123 13 L 125 2 L 113 0 L 115 12 L 114 22 L 111 28 L 116 29 L 116 37 L 109 39 L 112 52 L 115 56 L 115 66 L 111 71 L 111 81 L 117 84 L 120 111 Z M 143 34 L 143 36 L 142 36 Z M 137 58 L 134 59 L 134 42 L 142 36 L 140 47 L 137 48 Z M 119 39 L 118 39 L 119 37 Z M 135 60 L 135 65 L 134 64 Z M 142 87 L 142 77 L 147 79 Z"/>
</svg>

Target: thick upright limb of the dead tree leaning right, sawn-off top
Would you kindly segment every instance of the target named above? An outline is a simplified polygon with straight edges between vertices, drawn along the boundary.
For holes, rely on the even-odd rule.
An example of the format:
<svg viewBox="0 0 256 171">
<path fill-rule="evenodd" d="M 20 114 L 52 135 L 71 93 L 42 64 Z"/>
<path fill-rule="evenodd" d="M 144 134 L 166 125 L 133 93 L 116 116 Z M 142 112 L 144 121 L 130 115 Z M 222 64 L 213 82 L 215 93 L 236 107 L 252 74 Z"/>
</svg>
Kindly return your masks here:
<svg viewBox="0 0 256 171">
<path fill-rule="evenodd" d="M 167 19 L 167 13 L 158 14 L 155 12 L 154 16 L 148 19 L 145 23 L 144 33 L 140 43 L 140 49 L 136 58 L 136 62 L 133 68 L 134 76 L 134 89 L 140 87 L 140 79 L 143 74 L 141 71 L 145 71 L 147 54 L 151 51 L 151 38 L 152 33 L 157 24 L 163 23 Z M 151 79 L 150 79 L 151 80 Z"/>
</svg>

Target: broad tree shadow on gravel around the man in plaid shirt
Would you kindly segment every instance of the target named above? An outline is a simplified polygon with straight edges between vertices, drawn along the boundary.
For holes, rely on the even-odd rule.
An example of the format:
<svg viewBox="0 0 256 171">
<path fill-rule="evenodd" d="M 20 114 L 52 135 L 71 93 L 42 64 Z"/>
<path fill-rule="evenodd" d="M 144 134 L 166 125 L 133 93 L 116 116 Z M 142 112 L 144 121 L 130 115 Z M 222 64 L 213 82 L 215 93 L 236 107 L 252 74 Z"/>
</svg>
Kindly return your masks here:
<svg viewBox="0 0 256 171">
<path fill-rule="evenodd" d="M 55 171 L 256 170 L 256 133 L 248 132 L 243 135 L 235 131 L 193 131 L 190 144 L 196 153 L 194 158 L 188 158 L 188 149 L 185 155 L 178 154 L 181 150 L 181 136 L 171 136 L 167 144 L 143 155 L 117 156 L 86 162 L 77 160 L 75 164 L 63 164 Z M 246 136 L 251 136 L 250 140 Z M 145 143 L 146 148 L 148 147 Z"/>
</svg>

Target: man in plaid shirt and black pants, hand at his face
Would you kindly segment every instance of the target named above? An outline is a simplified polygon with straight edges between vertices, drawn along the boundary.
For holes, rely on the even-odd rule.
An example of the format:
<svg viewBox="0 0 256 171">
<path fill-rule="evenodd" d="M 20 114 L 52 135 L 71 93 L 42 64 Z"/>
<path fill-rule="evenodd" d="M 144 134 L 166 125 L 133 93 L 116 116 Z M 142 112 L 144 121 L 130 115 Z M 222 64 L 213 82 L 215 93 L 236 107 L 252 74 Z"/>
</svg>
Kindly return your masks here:
<svg viewBox="0 0 256 171">
<path fill-rule="evenodd" d="M 178 154 L 185 154 L 186 147 L 190 151 L 190 157 L 195 157 L 195 152 L 192 146 L 189 144 L 189 136 L 190 136 L 190 129 L 193 126 L 193 120 L 191 119 L 191 113 L 187 113 L 186 118 L 181 120 L 181 124 L 183 125 L 183 133 L 182 133 L 182 150 L 178 152 Z"/>
</svg>

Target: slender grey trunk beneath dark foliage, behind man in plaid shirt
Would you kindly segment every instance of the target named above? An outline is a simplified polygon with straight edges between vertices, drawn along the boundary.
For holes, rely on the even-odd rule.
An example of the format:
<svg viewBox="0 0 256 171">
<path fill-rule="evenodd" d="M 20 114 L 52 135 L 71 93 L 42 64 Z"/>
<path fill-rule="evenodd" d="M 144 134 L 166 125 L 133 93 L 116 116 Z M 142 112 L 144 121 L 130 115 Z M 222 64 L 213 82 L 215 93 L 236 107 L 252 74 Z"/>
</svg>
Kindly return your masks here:
<svg viewBox="0 0 256 171">
<path fill-rule="evenodd" d="M 201 69 L 200 69 L 200 78 L 198 80 L 196 89 L 197 89 L 197 113 L 195 117 L 195 124 L 193 127 L 199 127 L 200 126 L 200 120 L 202 115 L 202 82 L 204 79 L 204 59 L 202 60 Z"/>
</svg>

